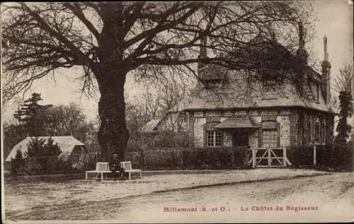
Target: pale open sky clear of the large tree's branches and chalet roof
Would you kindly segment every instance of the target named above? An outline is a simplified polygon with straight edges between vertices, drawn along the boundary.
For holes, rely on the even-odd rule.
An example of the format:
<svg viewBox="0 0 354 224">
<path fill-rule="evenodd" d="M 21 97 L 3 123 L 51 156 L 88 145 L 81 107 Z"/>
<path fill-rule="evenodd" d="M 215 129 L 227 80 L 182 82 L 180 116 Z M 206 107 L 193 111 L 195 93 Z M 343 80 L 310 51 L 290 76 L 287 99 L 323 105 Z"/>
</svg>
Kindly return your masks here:
<svg viewBox="0 0 354 224">
<path fill-rule="evenodd" d="M 331 83 L 339 73 L 344 63 L 353 63 L 353 1 L 347 0 L 321 0 L 312 1 L 314 13 L 318 20 L 314 22 L 315 37 L 309 43 L 313 54 L 312 60 L 322 61 L 324 58 L 324 35 L 328 39 L 329 61 L 331 62 Z M 320 68 L 316 68 L 320 69 Z M 80 82 L 75 80 L 79 70 L 61 69 L 55 72 L 55 78 L 48 76 L 36 81 L 33 87 L 24 95 L 18 96 L 28 99 L 31 93 L 42 94 L 41 104 L 69 104 L 76 102 L 80 105 L 87 119 L 96 119 L 98 97 L 88 98 L 80 92 Z M 135 83 L 133 77 L 128 76 L 125 84 L 125 93 L 129 99 L 139 98 L 142 93 L 142 84 Z M 333 90 L 332 90 L 333 93 Z M 16 102 L 8 102 L 6 107 L 1 107 L 1 119 L 11 122 Z"/>
</svg>

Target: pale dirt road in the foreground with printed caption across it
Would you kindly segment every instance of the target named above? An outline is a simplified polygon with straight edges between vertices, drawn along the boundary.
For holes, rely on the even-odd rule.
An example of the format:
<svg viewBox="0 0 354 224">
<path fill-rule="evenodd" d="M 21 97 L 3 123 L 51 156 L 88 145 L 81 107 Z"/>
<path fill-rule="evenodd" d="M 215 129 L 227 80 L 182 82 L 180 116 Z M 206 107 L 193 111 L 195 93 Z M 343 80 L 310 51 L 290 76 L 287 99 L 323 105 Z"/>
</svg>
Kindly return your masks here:
<svg viewBox="0 0 354 224">
<path fill-rule="evenodd" d="M 73 202 L 7 218 L 113 223 L 350 221 L 353 191 L 353 173 L 341 173 L 165 191 L 88 204 Z"/>
</svg>

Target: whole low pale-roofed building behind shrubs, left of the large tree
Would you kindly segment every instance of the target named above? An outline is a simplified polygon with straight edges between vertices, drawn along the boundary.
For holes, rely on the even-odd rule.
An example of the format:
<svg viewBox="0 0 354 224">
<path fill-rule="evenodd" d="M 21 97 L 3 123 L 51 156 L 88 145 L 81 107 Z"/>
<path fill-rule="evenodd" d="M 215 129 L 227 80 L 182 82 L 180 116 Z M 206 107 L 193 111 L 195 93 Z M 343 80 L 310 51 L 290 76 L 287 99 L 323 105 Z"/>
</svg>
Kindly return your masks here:
<svg viewBox="0 0 354 224">
<path fill-rule="evenodd" d="M 18 150 L 22 152 L 23 158 L 26 158 L 28 143 L 30 143 L 33 138 L 34 137 L 28 136 L 23 141 L 17 143 L 16 146 L 13 146 L 5 160 L 5 163 L 11 162 L 11 160 L 16 157 L 16 152 Z M 45 139 L 45 141 L 52 138 L 54 144 L 58 144 L 60 150 L 62 151 L 58 158 L 63 161 L 69 161 L 72 163 L 72 167 L 83 167 L 86 158 L 88 158 L 89 151 L 87 150 L 85 144 L 74 138 L 74 136 L 38 136 L 38 138 Z"/>
</svg>

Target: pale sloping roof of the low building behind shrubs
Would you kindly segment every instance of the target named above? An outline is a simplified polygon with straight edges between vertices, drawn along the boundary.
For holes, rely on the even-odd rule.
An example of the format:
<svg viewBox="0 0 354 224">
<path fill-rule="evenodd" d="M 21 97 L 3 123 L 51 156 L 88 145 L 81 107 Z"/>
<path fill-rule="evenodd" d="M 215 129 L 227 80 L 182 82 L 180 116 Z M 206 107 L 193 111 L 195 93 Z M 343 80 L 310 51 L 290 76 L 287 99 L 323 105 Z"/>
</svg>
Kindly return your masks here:
<svg viewBox="0 0 354 224">
<path fill-rule="evenodd" d="M 60 150 L 62 153 L 60 153 L 59 158 L 62 160 L 67 160 L 70 155 L 72 155 L 74 148 L 76 146 L 79 146 L 79 148 L 84 149 L 84 153 L 87 153 L 87 150 L 85 148 L 85 144 L 82 143 L 81 141 L 77 140 L 73 136 L 51 136 L 54 143 L 57 143 Z M 16 157 L 16 152 L 18 150 L 21 150 L 23 157 L 25 157 L 27 153 L 27 148 L 28 148 L 28 143 L 33 139 L 34 137 L 27 137 L 20 143 L 16 144 L 16 146 L 13 146 L 11 152 L 8 154 L 8 157 L 6 158 L 6 162 L 11 162 L 12 158 Z M 40 139 L 45 139 L 47 141 L 50 136 L 39 136 L 38 138 Z M 77 148 L 77 147 L 76 147 Z"/>
</svg>

